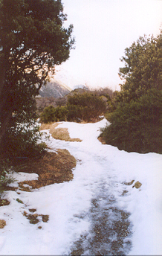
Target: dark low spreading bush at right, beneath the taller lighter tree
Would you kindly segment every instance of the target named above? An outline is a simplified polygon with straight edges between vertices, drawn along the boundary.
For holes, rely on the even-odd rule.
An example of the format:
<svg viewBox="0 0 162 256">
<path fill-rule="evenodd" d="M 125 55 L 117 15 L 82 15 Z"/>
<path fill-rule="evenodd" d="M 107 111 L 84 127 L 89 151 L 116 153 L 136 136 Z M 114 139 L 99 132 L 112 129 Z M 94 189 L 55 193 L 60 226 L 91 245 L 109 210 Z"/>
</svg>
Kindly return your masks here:
<svg viewBox="0 0 162 256">
<path fill-rule="evenodd" d="M 110 113 L 107 119 L 111 124 L 103 129 L 102 136 L 120 150 L 162 153 L 161 109 L 161 92 L 150 90 Z"/>
</svg>

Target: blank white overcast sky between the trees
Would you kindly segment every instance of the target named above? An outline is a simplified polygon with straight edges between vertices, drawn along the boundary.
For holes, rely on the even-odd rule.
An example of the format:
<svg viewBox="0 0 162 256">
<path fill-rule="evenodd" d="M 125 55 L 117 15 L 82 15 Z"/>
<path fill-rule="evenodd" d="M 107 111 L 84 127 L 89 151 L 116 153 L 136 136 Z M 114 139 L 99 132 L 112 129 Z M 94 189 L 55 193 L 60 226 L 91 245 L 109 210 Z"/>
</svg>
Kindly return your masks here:
<svg viewBox="0 0 162 256">
<path fill-rule="evenodd" d="M 75 50 L 56 79 L 76 85 L 120 89 L 120 57 L 139 36 L 160 33 L 161 0 L 62 0 L 74 25 Z"/>
</svg>

